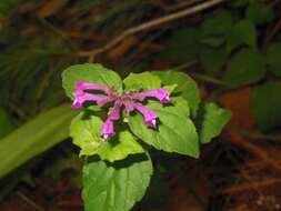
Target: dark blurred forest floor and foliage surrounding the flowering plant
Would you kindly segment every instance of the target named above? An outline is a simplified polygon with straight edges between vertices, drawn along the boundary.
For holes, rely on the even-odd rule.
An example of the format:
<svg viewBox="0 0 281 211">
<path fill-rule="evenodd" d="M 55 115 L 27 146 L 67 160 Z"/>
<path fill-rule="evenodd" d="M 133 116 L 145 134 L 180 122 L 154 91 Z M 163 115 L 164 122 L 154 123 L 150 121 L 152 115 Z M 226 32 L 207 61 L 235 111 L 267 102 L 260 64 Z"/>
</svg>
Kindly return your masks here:
<svg viewBox="0 0 281 211">
<path fill-rule="evenodd" d="M 128 29 L 208 1 L 0 1 L 0 210 L 82 210 L 77 149 L 67 141 L 47 151 L 68 139 L 74 114 L 62 70 Z M 199 161 L 155 153 L 152 187 L 136 210 L 280 209 L 280 11 L 279 0 L 220 1 L 94 57 L 121 76 L 187 72 L 203 99 L 233 113 Z"/>
</svg>

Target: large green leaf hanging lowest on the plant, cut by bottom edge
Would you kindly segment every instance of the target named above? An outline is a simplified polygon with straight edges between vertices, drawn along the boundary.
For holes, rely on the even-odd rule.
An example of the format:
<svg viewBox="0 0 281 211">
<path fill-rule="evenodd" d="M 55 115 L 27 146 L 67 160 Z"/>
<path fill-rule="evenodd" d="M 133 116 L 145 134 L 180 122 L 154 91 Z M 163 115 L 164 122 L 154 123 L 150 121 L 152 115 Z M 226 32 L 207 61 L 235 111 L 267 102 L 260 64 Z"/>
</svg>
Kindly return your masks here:
<svg viewBox="0 0 281 211">
<path fill-rule="evenodd" d="M 84 210 L 131 210 L 144 195 L 152 171 L 151 160 L 144 154 L 114 163 L 88 159 L 83 168 Z"/>
</svg>

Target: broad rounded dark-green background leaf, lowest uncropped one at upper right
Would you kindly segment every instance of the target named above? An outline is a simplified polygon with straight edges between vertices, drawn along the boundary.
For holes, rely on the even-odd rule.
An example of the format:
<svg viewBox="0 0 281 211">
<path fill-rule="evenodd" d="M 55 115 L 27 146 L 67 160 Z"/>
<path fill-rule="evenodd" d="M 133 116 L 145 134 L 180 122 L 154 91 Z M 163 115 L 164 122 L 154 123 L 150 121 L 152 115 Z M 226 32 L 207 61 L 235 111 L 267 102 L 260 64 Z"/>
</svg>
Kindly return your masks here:
<svg viewBox="0 0 281 211">
<path fill-rule="evenodd" d="M 262 54 L 242 49 L 231 59 L 223 80 L 233 88 L 258 82 L 264 77 L 265 64 Z"/>
</svg>

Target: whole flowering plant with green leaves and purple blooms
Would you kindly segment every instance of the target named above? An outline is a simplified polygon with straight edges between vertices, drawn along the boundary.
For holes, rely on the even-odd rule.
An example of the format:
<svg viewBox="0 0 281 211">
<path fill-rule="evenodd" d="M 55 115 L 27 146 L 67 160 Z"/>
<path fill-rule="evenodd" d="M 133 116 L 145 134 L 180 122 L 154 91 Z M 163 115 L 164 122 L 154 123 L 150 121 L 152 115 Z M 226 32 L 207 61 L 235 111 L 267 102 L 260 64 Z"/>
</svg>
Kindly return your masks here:
<svg viewBox="0 0 281 211">
<path fill-rule="evenodd" d="M 145 193 L 152 175 L 151 148 L 199 157 L 200 143 L 217 137 L 230 112 L 200 103 L 197 83 L 182 72 L 130 73 L 123 81 L 101 64 L 63 71 L 72 108 L 70 137 L 86 158 L 87 211 L 127 211 Z"/>
</svg>

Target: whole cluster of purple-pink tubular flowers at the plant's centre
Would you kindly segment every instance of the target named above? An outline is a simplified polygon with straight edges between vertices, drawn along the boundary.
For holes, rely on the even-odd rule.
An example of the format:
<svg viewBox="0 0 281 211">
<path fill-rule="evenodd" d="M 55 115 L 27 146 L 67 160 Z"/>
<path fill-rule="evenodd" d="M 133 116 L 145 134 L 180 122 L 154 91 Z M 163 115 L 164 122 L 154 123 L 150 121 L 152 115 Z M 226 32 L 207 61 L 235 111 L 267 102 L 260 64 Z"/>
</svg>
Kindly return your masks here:
<svg viewBox="0 0 281 211">
<path fill-rule="evenodd" d="M 91 93 L 90 91 L 100 91 L 103 94 Z M 113 88 L 86 81 L 77 81 L 73 97 L 73 109 L 81 108 L 84 102 L 96 102 L 99 107 L 103 107 L 110 102 L 113 103 L 106 122 L 102 124 L 102 137 L 104 140 L 108 140 L 116 134 L 114 121 L 120 119 L 122 107 L 124 107 L 127 114 L 130 114 L 130 112 L 134 110 L 140 112 L 144 118 L 144 123 L 154 129 L 157 128 L 158 118 L 155 111 L 145 108 L 140 102 L 147 98 L 155 98 L 163 104 L 171 102 L 169 91 L 163 88 L 142 92 L 130 91 L 119 96 Z"/>
</svg>

